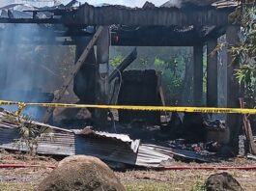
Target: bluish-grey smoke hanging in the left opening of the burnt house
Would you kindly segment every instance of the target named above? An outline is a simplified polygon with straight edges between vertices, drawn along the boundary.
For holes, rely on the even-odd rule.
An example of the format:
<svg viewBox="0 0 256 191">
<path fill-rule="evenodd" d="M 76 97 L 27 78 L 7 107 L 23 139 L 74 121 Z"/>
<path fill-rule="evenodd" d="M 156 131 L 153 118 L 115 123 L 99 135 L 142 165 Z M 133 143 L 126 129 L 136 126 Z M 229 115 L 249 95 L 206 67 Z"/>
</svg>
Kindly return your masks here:
<svg viewBox="0 0 256 191">
<path fill-rule="evenodd" d="M 56 79 L 41 66 L 52 68 L 52 63 L 45 59 L 48 56 L 47 47 L 33 44 L 35 37 L 50 38 L 47 37 L 47 31 L 37 24 L 6 24 L 1 29 L 0 99 L 50 101 L 52 96 L 44 93 L 48 91 L 45 87 Z M 16 110 L 16 106 L 3 107 L 13 112 Z M 42 118 L 43 108 L 28 107 L 23 114 L 39 120 Z"/>
</svg>

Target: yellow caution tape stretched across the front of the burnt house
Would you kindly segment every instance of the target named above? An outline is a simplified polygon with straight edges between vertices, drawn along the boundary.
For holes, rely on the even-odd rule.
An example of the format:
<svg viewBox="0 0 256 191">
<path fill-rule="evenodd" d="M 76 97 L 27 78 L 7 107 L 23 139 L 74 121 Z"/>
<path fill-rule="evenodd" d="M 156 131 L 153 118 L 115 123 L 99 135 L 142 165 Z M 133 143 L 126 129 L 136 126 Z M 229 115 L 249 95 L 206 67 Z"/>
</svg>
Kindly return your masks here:
<svg viewBox="0 0 256 191">
<path fill-rule="evenodd" d="M 40 106 L 53 108 L 96 108 L 96 109 L 119 109 L 138 111 L 165 111 L 165 112 L 199 112 L 220 114 L 256 114 L 256 109 L 242 108 L 216 108 L 216 107 L 172 107 L 172 106 L 129 106 L 129 105 L 89 105 L 69 103 L 24 103 L 17 101 L 0 100 L 0 105 L 19 105 L 21 110 L 25 106 Z"/>
</svg>

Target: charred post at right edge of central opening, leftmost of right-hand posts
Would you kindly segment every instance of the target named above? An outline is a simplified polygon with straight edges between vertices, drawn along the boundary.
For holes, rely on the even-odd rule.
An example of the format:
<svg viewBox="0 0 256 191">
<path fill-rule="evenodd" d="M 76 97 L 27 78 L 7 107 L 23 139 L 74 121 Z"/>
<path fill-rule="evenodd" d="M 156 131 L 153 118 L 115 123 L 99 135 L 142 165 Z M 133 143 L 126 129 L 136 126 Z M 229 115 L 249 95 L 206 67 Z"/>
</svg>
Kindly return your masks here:
<svg viewBox="0 0 256 191">
<path fill-rule="evenodd" d="M 203 98 L 203 46 L 194 46 L 193 104 L 202 105 Z"/>
</svg>

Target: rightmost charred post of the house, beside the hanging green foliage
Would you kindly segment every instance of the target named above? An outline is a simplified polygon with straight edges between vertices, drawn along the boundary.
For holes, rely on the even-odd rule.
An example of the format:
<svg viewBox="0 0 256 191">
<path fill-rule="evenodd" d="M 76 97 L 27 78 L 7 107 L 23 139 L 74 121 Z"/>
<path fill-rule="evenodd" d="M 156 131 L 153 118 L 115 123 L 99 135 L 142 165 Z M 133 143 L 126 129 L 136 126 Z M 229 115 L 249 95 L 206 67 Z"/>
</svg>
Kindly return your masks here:
<svg viewBox="0 0 256 191">
<path fill-rule="evenodd" d="M 227 27 L 227 44 L 228 48 L 236 45 L 239 39 L 240 27 L 236 25 L 230 25 Z M 227 107 L 240 107 L 239 98 L 242 97 L 241 87 L 238 79 L 234 75 L 237 68 L 240 67 L 239 63 L 234 63 L 234 56 L 232 52 L 228 51 L 227 57 Z M 234 151 L 234 154 L 239 153 L 239 133 L 241 126 L 241 115 L 228 114 L 227 126 L 230 128 L 230 147 Z"/>
</svg>

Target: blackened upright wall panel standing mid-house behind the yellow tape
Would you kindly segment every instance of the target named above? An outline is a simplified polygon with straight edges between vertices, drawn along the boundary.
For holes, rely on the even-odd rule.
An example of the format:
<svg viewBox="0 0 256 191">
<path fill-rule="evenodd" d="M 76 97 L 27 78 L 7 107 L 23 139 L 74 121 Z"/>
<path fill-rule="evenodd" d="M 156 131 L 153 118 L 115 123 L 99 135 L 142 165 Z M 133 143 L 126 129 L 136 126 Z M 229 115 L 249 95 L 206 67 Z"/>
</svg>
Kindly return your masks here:
<svg viewBox="0 0 256 191">
<path fill-rule="evenodd" d="M 123 73 L 119 105 L 160 105 L 156 70 L 128 70 Z M 160 123 L 160 112 L 119 110 L 120 123 Z"/>
</svg>

